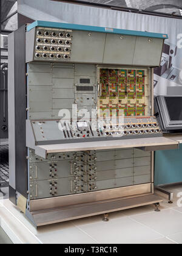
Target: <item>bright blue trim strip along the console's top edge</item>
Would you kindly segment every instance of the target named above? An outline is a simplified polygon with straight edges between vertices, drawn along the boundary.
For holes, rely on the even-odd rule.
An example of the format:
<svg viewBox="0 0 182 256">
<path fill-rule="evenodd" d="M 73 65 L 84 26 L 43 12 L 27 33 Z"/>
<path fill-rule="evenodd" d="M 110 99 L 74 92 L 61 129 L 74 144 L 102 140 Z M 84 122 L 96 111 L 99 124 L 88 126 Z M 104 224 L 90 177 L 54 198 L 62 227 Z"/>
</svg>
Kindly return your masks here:
<svg viewBox="0 0 182 256">
<path fill-rule="evenodd" d="M 55 29 L 71 29 L 71 30 L 86 30 L 92 32 L 102 32 L 102 33 L 111 33 L 111 34 L 121 34 L 121 35 L 133 35 L 139 37 L 151 37 L 151 38 L 163 38 L 167 39 L 167 34 L 158 34 L 150 32 L 142 32 L 135 30 L 125 30 L 125 29 L 112 29 L 107 27 L 93 27 L 93 26 L 84 26 L 77 24 L 69 23 L 56 23 L 50 21 L 35 21 L 34 23 L 27 26 L 27 31 L 33 29 L 34 27 L 53 27 Z"/>
</svg>

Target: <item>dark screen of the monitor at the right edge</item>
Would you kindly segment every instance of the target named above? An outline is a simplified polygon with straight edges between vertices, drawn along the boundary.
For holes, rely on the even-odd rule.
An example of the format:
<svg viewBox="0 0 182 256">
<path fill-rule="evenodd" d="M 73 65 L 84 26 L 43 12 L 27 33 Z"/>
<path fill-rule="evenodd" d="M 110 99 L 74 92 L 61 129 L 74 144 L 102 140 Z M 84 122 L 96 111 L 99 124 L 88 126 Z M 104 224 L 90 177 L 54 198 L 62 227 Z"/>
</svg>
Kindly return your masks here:
<svg viewBox="0 0 182 256">
<path fill-rule="evenodd" d="M 182 96 L 165 97 L 170 121 L 182 121 Z"/>
</svg>

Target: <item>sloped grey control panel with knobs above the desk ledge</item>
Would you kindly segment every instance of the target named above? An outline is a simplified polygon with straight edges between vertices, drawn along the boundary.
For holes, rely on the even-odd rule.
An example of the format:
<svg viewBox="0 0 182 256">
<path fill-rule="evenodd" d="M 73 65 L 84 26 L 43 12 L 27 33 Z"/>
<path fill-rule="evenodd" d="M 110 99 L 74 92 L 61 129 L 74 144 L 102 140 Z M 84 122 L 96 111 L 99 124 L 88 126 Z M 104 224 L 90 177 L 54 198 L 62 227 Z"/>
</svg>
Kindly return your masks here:
<svg viewBox="0 0 182 256">
<path fill-rule="evenodd" d="M 92 122 L 77 121 L 72 124 L 67 121 L 31 121 L 36 144 L 73 143 L 82 141 L 117 140 L 126 138 L 142 138 L 161 136 L 161 129 L 155 117 L 124 118 L 124 124 L 98 123 L 92 129 Z"/>
</svg>

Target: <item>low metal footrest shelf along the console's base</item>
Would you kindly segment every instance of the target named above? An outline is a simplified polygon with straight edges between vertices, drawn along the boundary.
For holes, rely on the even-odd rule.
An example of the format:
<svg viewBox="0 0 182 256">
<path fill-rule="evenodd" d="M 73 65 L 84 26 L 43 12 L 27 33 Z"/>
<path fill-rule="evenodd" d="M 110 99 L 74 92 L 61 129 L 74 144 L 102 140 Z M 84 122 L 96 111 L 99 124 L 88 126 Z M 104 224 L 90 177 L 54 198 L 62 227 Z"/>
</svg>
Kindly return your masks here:
<svg viewBox="0 0 182 256">
<path fill-rule="evenodd" d="M 99 201 L 89 204 L 72 205 L 70 207 L 62 207 L 54 210 L 51 209 L 37 212 L 27 211 L 27 217 L 38 227 L 62 221 L 70 221 L 72 219 L 117 212 L 144 205 L 159 204 L 160 202 L 163 202 L 160 197 L 155 196 L 155 194 L 149 194 L 147 196 L 139 196 L 129 199 L 118 198 L 115 201 Z"/>
</svg>

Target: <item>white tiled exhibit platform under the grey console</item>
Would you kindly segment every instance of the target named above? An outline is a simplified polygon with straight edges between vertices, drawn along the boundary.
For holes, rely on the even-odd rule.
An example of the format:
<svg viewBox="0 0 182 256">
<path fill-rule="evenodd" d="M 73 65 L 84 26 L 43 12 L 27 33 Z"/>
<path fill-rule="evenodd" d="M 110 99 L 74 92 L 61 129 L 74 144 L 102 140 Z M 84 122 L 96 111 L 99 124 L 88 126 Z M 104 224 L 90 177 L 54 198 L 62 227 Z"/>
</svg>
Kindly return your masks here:
<svg viewBox="0 0 182 256">
<path fill-rule="evenodd" d="M 154 205 L 52 224 L 36 229 L 8 199 L 0 201 L 0 224 L 14 244 L 99 244 L 99 243 L 182 243 L 182 207 L 177 206 L 181 185 L 169 187 L 174 204 L 167 197 L 154 212 Z"/>
</svg>

